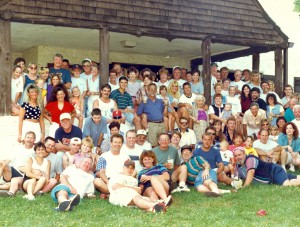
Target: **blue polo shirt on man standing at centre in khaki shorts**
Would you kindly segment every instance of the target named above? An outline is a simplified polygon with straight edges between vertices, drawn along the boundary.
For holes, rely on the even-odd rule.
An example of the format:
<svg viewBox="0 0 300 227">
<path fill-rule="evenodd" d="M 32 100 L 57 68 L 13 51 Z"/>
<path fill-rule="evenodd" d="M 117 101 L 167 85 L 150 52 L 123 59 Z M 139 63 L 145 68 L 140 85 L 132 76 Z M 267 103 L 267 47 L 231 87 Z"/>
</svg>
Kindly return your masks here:
<svg viewBox="0 0 300 227">
<path fill-rule="evenodd" d="M 164 103 L 161 99 L 155 98 L 155 101 L 148 99 L 147 103 L 142 102 L 139 105 L 137 114 L 141 115 L 145 113 L 148 117 L 148 121 L 163 121 L 164 108 Z"/>
</svg>

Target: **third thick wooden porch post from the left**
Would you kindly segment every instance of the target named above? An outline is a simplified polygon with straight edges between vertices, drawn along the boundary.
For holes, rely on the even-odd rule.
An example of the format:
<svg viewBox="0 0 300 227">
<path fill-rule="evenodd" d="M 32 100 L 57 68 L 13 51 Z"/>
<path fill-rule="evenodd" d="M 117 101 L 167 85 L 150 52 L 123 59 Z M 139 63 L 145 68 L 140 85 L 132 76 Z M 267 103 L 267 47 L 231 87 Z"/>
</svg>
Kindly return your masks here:
<svg viewBox="0 0 300 227">
<path fill-rule="evenodd" d="M 202 77 L 204 85 L 204 96 L 208 105 L 211 104 L 210 43 L 210 39 L 204 39 L 202 40 L 201 44 L 201 52 L 203 59 Z"/>
</svg>

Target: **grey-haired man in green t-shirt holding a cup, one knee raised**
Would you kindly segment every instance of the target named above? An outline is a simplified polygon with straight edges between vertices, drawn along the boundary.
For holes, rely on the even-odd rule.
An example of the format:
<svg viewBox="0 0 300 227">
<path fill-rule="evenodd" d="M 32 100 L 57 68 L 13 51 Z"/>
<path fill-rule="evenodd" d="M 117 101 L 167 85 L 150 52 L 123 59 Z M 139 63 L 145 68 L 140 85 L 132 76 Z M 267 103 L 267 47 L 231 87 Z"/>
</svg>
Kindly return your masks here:
<svg viewBox="0 0 300 227">
<path fill-rule="evenodd" d="M 153 149 L 156 155 L 158 164 L 164 165 L 170 173 L 173 188 L 176 182 L 179 181 L 179 186 L 173 192 L 189 192 L 190 189 L 186 186 L 187 167 L 180 165 L 180 158 L 175 147 L 170 146 L 170 138 L 167 133 L 161 133 L 158 137 L 159 146 Z M 171 186 L 172 187 L 172 186 Z"/>
</svg>

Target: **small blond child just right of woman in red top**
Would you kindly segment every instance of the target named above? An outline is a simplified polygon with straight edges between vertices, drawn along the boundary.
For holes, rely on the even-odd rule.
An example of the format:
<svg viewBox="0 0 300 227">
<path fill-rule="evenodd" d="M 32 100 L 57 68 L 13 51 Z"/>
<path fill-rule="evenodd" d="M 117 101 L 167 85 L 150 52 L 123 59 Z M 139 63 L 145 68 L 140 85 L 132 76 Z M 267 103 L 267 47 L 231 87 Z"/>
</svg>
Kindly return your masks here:
<svg viewBox="0 0 300 227">
<path fill-rule="evenodd" d="M 71 98 L 70 103 L 74 106 L 76 110 L 76 118 L 78 122 L 78 128 L 82 129 L 83 125 L 83 107 L 84 107 L 84 100 L 80 95 L 80 90 L 77 86 L 71 89 Z"/>
</svg>

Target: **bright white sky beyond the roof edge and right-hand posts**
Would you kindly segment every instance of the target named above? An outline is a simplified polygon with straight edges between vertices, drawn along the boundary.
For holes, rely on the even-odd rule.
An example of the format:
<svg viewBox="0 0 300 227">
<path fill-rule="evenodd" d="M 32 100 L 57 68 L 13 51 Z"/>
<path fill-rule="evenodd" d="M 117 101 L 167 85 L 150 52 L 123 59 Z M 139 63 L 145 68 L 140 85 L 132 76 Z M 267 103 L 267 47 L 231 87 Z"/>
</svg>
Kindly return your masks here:
<svg viewBox="0 0 300 227">
<path fill-rule="evenodd" d="M 280 29 L 289 37 L 294 47 L 289 49 L 289 83 L 294 77 L 300 76 L 300 13 L 294 12 L 294 0 L 259 0 L 262 7 Z M 219 66 L 230 69 L 252 67 L 252 58 L 243 57 L 236 60 L 221 62 Z M 275 74 L 274 52 L 260 55 L 260 71 L 267 75 Z"/>
</svg>

